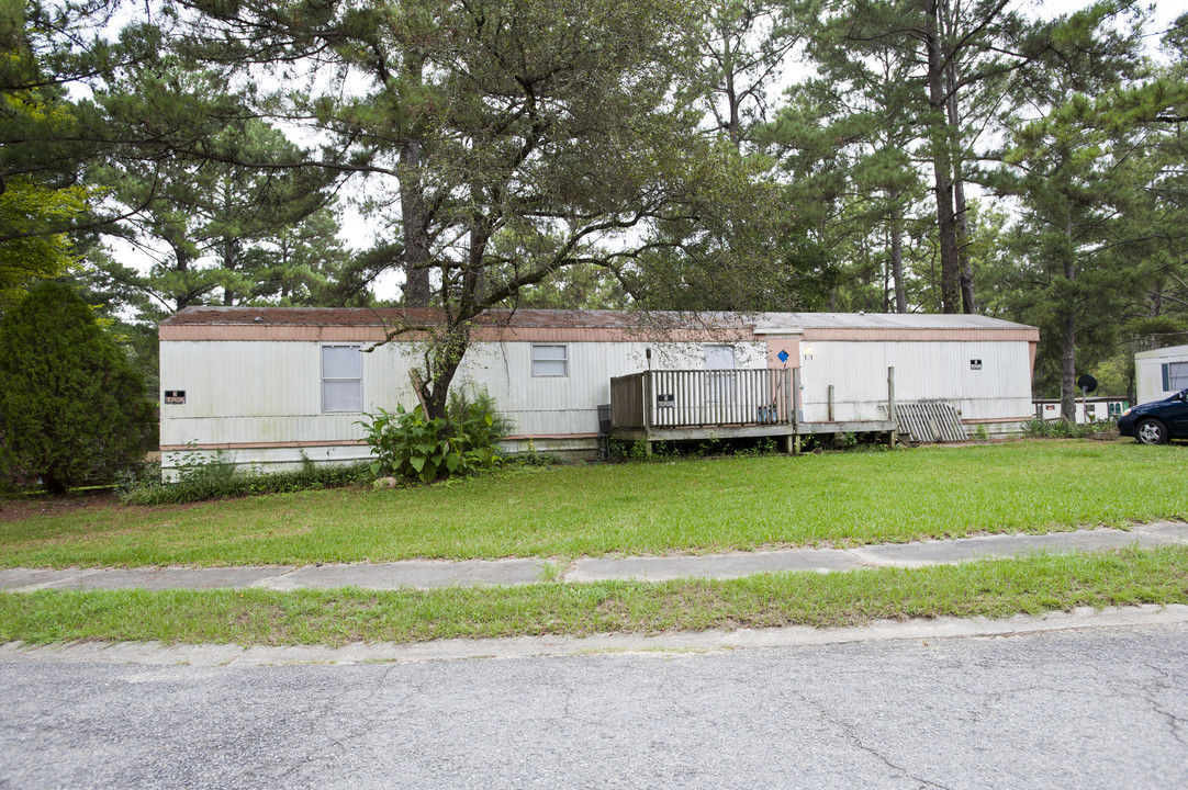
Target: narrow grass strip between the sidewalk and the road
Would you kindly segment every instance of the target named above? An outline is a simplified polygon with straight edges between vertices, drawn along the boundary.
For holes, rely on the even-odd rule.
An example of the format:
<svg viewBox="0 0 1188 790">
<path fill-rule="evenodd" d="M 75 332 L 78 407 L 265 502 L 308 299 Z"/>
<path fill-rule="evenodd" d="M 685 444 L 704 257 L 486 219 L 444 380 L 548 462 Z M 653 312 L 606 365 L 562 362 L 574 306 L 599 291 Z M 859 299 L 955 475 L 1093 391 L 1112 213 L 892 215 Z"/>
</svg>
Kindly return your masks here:
<svg viewBox="0 0 1188 790">
<path fill-rule="evenodd" d="M 658 633 L 1188 603 L 1188 548 L 731 581 L 368 592 L 108 590 L 0 595 L 0 643 L 242 645 Z"/>
</svg>

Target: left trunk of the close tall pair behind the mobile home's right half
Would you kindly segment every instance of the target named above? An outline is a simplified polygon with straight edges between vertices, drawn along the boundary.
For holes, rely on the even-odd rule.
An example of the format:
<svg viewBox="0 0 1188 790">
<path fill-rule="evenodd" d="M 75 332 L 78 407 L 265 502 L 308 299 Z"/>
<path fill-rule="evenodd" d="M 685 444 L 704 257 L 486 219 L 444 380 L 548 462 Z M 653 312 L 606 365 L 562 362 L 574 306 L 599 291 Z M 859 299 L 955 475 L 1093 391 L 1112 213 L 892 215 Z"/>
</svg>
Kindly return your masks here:
<svg viewBox="0 0 1188 790">
<path fill-rule="evenodd" d="M 940 32 L 940 0 L 928 2 L 928 103 L 935 121 L 930 133 L 933 176 L 936 184 L 936 230 L 941 248 L 941 311 L 961 311 L 961 264 L 958 259 L 956 220 L 953 211 L 953 157 L 947 118 L 944 53 Z"/>
</svg>

